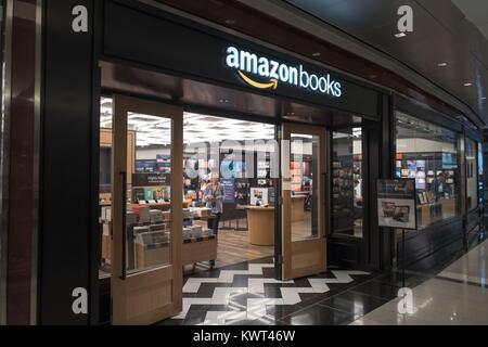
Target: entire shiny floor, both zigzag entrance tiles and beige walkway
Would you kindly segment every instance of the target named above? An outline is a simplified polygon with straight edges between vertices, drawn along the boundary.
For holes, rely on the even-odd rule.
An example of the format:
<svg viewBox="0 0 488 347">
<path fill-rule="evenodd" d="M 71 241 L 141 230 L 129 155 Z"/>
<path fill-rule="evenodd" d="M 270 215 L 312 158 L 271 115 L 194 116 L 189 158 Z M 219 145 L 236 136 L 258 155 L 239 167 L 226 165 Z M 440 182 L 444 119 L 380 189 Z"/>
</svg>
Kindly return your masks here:
<svg viewBox="0 0 488 347">
<path fill-rule="evenodd" d="M 282 282 L 273 279 L 271 257 L 241 262 L 187 277 L 183 311 L 160 324 L 488 324 L 487 246 L 479 243 L 436 272 L 407 271 L 408 305 L 398 298 L 398 272 L 330 267 Z"/>
</svg>

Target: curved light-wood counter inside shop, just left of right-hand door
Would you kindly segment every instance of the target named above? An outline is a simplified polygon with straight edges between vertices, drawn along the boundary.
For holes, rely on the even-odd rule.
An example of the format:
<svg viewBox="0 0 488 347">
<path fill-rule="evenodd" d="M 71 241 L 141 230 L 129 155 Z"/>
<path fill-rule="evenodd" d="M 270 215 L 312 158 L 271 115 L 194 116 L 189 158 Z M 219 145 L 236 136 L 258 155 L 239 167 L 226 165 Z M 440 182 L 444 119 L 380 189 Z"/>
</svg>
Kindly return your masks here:
<svg viewBox="0 0 488 347">
<path fill-rule="evenodd" d="M 244 206 L 247 211 L 249 243 L 257 246 L 274 245 L 274 207 Z"/>
</svg>

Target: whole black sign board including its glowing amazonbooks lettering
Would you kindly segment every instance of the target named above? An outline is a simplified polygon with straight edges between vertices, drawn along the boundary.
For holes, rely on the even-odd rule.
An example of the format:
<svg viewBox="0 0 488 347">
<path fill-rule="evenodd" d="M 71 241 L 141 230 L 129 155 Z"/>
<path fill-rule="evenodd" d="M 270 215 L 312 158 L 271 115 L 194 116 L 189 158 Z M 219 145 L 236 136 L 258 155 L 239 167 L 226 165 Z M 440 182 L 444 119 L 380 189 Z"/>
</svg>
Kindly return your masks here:
<svg viewBox="0 0 488 347">
<path fill-rule="evenodd" d="M 190 85 L 198 81 L 218 88 L 236 88 L 239 93 L 267 94 L 266 98 L 279 98 L 281 102 L 317 110 L 331 107 L 380 119 L 383 100 L 380 90 L 306 59 L 305 54 L 300 57 L 285 50 L 277 51 L 170 13 L 159 13 L 152 7 L 141 15 L 132 7 L 121 5 L 119 0 L 105 2 L 103 53 L 107 56 L 134 62 L 141 68 L 146 66 L 168 76 L 164 78 L 188 80 Z M 167 87 L 168 93 L 192 102 L 193 97 L 183 95 L 189 91 L 180 90 L 178 83 Z M 216 90 L 217 99 L 230 98 L 231 104 L 234 103 L 224 89 Z M 262 107 L 272 112 L 268 106 Z"/>
</svg>

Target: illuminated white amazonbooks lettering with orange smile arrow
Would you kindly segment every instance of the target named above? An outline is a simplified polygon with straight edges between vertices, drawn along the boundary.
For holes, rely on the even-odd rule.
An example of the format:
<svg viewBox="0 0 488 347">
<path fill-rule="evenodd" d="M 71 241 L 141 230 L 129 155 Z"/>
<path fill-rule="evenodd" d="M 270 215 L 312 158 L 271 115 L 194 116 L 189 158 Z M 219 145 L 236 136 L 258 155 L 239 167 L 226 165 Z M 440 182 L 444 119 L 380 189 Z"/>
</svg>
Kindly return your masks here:
<svg viewBox="0 0 488 347">
<path fill-rule="evenodd" d="M 301 64 L 291 66 L 232 46 L 227 48 L 226 54 L 226 65 L 236 69 L 242 80 L 254 88 L 277 89 L 279 82 L 283 82 L 334 98 L 343 94 L 341 82 L 333 80 L 330 74 L 311 74 Z"/>
</svg>

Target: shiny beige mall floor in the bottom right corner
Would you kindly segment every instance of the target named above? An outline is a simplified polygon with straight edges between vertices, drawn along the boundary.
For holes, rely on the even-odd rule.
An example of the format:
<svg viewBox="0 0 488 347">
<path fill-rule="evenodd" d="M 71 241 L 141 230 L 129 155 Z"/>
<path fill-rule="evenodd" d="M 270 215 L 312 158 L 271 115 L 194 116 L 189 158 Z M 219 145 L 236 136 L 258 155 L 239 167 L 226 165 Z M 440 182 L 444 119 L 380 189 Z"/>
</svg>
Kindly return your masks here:
<svg viewBox="0 0 488 347">
<path fill-rule="evenodd" d="M 411 285 L 404 299 L 395 298 L 352 324 L 488 324 L 487 248 L 485 241 L 436 277 Z"/>
</svg>

